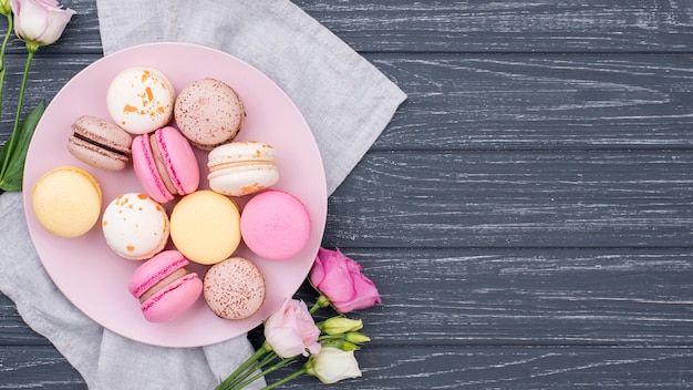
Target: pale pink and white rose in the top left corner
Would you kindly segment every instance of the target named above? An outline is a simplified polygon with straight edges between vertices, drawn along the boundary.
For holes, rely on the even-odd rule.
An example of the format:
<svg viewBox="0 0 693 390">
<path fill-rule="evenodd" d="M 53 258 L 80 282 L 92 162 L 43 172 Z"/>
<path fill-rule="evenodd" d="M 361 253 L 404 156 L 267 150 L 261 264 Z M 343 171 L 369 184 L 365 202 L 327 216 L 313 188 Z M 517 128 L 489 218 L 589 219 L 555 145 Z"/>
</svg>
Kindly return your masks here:
<svg viewBox="0 0 693 390">
<path fill-rule="evenodd" d="M 74 14 L 55 0 L 10 0 L 10 7 L 14 13 L 14 33 L 35 47 L 58 41 Z"/>
</svg>

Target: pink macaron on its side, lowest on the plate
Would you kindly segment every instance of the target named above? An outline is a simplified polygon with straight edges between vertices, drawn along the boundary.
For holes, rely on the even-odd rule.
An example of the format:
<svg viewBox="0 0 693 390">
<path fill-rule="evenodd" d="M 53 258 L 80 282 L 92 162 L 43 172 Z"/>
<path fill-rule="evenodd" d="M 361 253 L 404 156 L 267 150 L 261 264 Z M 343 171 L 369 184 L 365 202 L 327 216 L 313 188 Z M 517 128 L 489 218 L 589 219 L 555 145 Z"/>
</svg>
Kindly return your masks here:
<svg viewBox="0 0 693 390">
<path fill-rule="evenodd" d="M 127 289 L 147 321 L 170 321 L 200 297 L 203 280 L 186 268 L 188 264 L 179 252 L 164 250 L 135 269 Z"/>
</svg>

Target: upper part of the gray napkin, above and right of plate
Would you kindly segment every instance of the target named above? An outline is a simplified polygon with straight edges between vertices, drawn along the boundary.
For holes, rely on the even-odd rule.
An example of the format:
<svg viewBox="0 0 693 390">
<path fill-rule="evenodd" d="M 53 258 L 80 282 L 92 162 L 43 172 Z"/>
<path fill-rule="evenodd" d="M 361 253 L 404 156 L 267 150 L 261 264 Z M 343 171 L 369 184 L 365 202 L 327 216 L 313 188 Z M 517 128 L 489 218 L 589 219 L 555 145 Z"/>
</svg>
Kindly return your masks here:
<svg viewBox="0 0 693 390">
<path fill-rule="evenodd" d="M 235 55 L 272 79 L 313 132 L 332 193 L 385 129 L 406 95 L 373 64 L 290 1 L 156 2 L 127 16 L 99 0 L 104 53 L 149 42 L 187 42 Z M 115 7 L 117 8 L 117 7 Z M 146 12 L 157 12 L 152 20 Z M 185 14 L 185 22 L 176 16 Z M 155 30 L 154 35 L 146 32 Z M 349 147 L 345 147 L 348 145 Z"/>
</svg>

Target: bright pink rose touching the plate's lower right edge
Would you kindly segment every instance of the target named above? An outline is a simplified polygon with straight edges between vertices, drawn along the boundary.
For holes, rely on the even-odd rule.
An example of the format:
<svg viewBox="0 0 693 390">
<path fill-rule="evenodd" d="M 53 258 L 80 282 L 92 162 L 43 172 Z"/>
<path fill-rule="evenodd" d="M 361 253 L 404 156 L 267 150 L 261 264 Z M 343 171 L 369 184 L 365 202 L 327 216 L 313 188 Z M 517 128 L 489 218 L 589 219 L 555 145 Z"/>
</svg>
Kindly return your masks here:
<svg viewBox="0 0 693 390">
<path fill-rule="evenodd" d="M 359 263 L 337 250 L 320 248 L 313 268 L 311 284 L 340 312 L 369 308 L 382 304 L 377 288 L 361 273 Z"/>
</svg>

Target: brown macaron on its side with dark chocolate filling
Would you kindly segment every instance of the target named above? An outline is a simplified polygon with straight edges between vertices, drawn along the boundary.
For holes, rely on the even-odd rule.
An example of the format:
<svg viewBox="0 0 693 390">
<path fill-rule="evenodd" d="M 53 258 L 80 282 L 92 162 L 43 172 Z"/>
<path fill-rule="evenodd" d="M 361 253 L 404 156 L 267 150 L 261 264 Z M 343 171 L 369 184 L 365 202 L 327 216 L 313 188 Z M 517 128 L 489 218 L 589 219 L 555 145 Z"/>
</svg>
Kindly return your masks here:
<svg viewBox="0 0 693 390">
<path fill-rule="evenodd" d="M 91 166 L 121 171 L 130 162 L 133 137 L 116 124 L 96 116 L 83 115 L 72 124 L 68 151 Z"/>
</svg>

